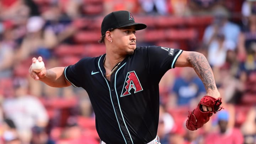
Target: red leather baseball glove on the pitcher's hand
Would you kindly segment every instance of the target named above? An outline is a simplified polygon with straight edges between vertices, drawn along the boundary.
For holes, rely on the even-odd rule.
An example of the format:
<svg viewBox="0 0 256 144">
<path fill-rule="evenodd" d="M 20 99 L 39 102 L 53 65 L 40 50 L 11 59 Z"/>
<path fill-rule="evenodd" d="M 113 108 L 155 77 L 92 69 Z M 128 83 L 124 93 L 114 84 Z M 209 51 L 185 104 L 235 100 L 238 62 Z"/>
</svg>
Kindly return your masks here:
<svg viewBox="0 0 256 144">
<path fill-rule="evenodd" d="M 211 96 L 204 96 L 201 101 L 198 103 L 198 106 L 189 112 L 188 119 L 186 121 L 186 127 L 189 130 L 197 130 L 201 128 L 205 123 L 207 123 L 213 113 L 217 113 L 223 107 L 220 107 L 222 104 L 221 98 L 214 98 Z M 204 112 L 202 106 L 211 107 L 212 111 Z"/>
</svg>

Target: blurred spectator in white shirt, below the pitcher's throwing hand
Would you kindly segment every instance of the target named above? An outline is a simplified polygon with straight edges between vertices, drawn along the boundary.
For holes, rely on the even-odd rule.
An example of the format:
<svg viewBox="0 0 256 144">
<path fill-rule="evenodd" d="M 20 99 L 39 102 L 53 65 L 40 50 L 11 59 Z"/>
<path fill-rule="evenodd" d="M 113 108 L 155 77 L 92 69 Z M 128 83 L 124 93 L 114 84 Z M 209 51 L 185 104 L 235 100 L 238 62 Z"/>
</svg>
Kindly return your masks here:
<svg viewBox="0 0 256 144">
<path fill-rule="evenodd" d="M 5 117 L 15 123 L 22 142 L 28 143 L 31 128 L 35 125 L 46 127 L 48 115 L 42 103 L 36 97 L 28 95 L 28 82 L 25 78 L 15 78 L 13 87 L 14 96 L 3 101 L 3 111 Z"/>
</svg>

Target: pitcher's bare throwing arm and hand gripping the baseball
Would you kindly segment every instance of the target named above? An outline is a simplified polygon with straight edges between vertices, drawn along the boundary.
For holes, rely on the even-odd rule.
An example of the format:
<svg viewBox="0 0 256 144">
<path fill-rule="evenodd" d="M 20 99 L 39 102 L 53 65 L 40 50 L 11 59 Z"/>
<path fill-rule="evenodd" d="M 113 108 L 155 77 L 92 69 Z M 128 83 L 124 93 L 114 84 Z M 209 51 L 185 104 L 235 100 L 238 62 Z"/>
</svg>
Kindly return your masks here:
<svg viewBox="0 0 256 144">
<path fill-rule="evenodd" d="M 32 58 L 32 63 L 36 62 L 36 58 Z M 41 62 L 43 59 L 42 57 L 38 57 L 39 62 Z M 64 69 L 65 67 L 55 67 L 46 70 L 44 67 L 43 70 L 39 73 L 36 73 L 32 71 L 31 66 L 28 70 L 30 73 L 30 76 L 35 80 L 40 80 L 44 83 L 46 83 L 49 86 L 52 87 L 66 87 L 70 86 L 70 82 L 67 81 L 64 77 Z"/>
</svg>

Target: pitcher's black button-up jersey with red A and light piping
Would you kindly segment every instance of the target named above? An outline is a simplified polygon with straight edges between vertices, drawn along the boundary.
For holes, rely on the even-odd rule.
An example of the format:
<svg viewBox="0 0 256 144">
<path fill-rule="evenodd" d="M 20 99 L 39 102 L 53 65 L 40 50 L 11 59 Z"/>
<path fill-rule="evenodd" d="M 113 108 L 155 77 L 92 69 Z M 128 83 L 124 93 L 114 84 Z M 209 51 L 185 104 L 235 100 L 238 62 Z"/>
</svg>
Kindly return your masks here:
<svg viewBox="0 0 256 144">
<path fill-rule="evenodd" d="M 159 81 L 174 68 L 180 49 L 137 47 L 105 78 L 103 59 L 86 57 L 64 70 L 65 78 L 89 94 L 99 137 L 107 144 L 145 144 L 156 137 Z"/>
</svg>

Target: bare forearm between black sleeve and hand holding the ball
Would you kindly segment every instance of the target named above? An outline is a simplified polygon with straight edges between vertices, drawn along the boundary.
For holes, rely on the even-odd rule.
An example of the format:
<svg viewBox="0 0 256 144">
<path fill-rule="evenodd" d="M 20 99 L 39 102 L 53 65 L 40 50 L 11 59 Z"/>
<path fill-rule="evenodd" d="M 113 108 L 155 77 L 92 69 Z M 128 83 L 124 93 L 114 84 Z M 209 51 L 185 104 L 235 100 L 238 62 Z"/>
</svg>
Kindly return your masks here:
<svg viewBox="0 0 256 144">
<path fill-rule="evenodd" d="M 64 69 L 65 67 L 55 67 L 48 69 L 46 70 L 46 75 L 42 78 L 39 78 L 39 80 L 52 87 L 70 86 L 71 84 L 67 82 L 64 77 Z"/>
</svg>

